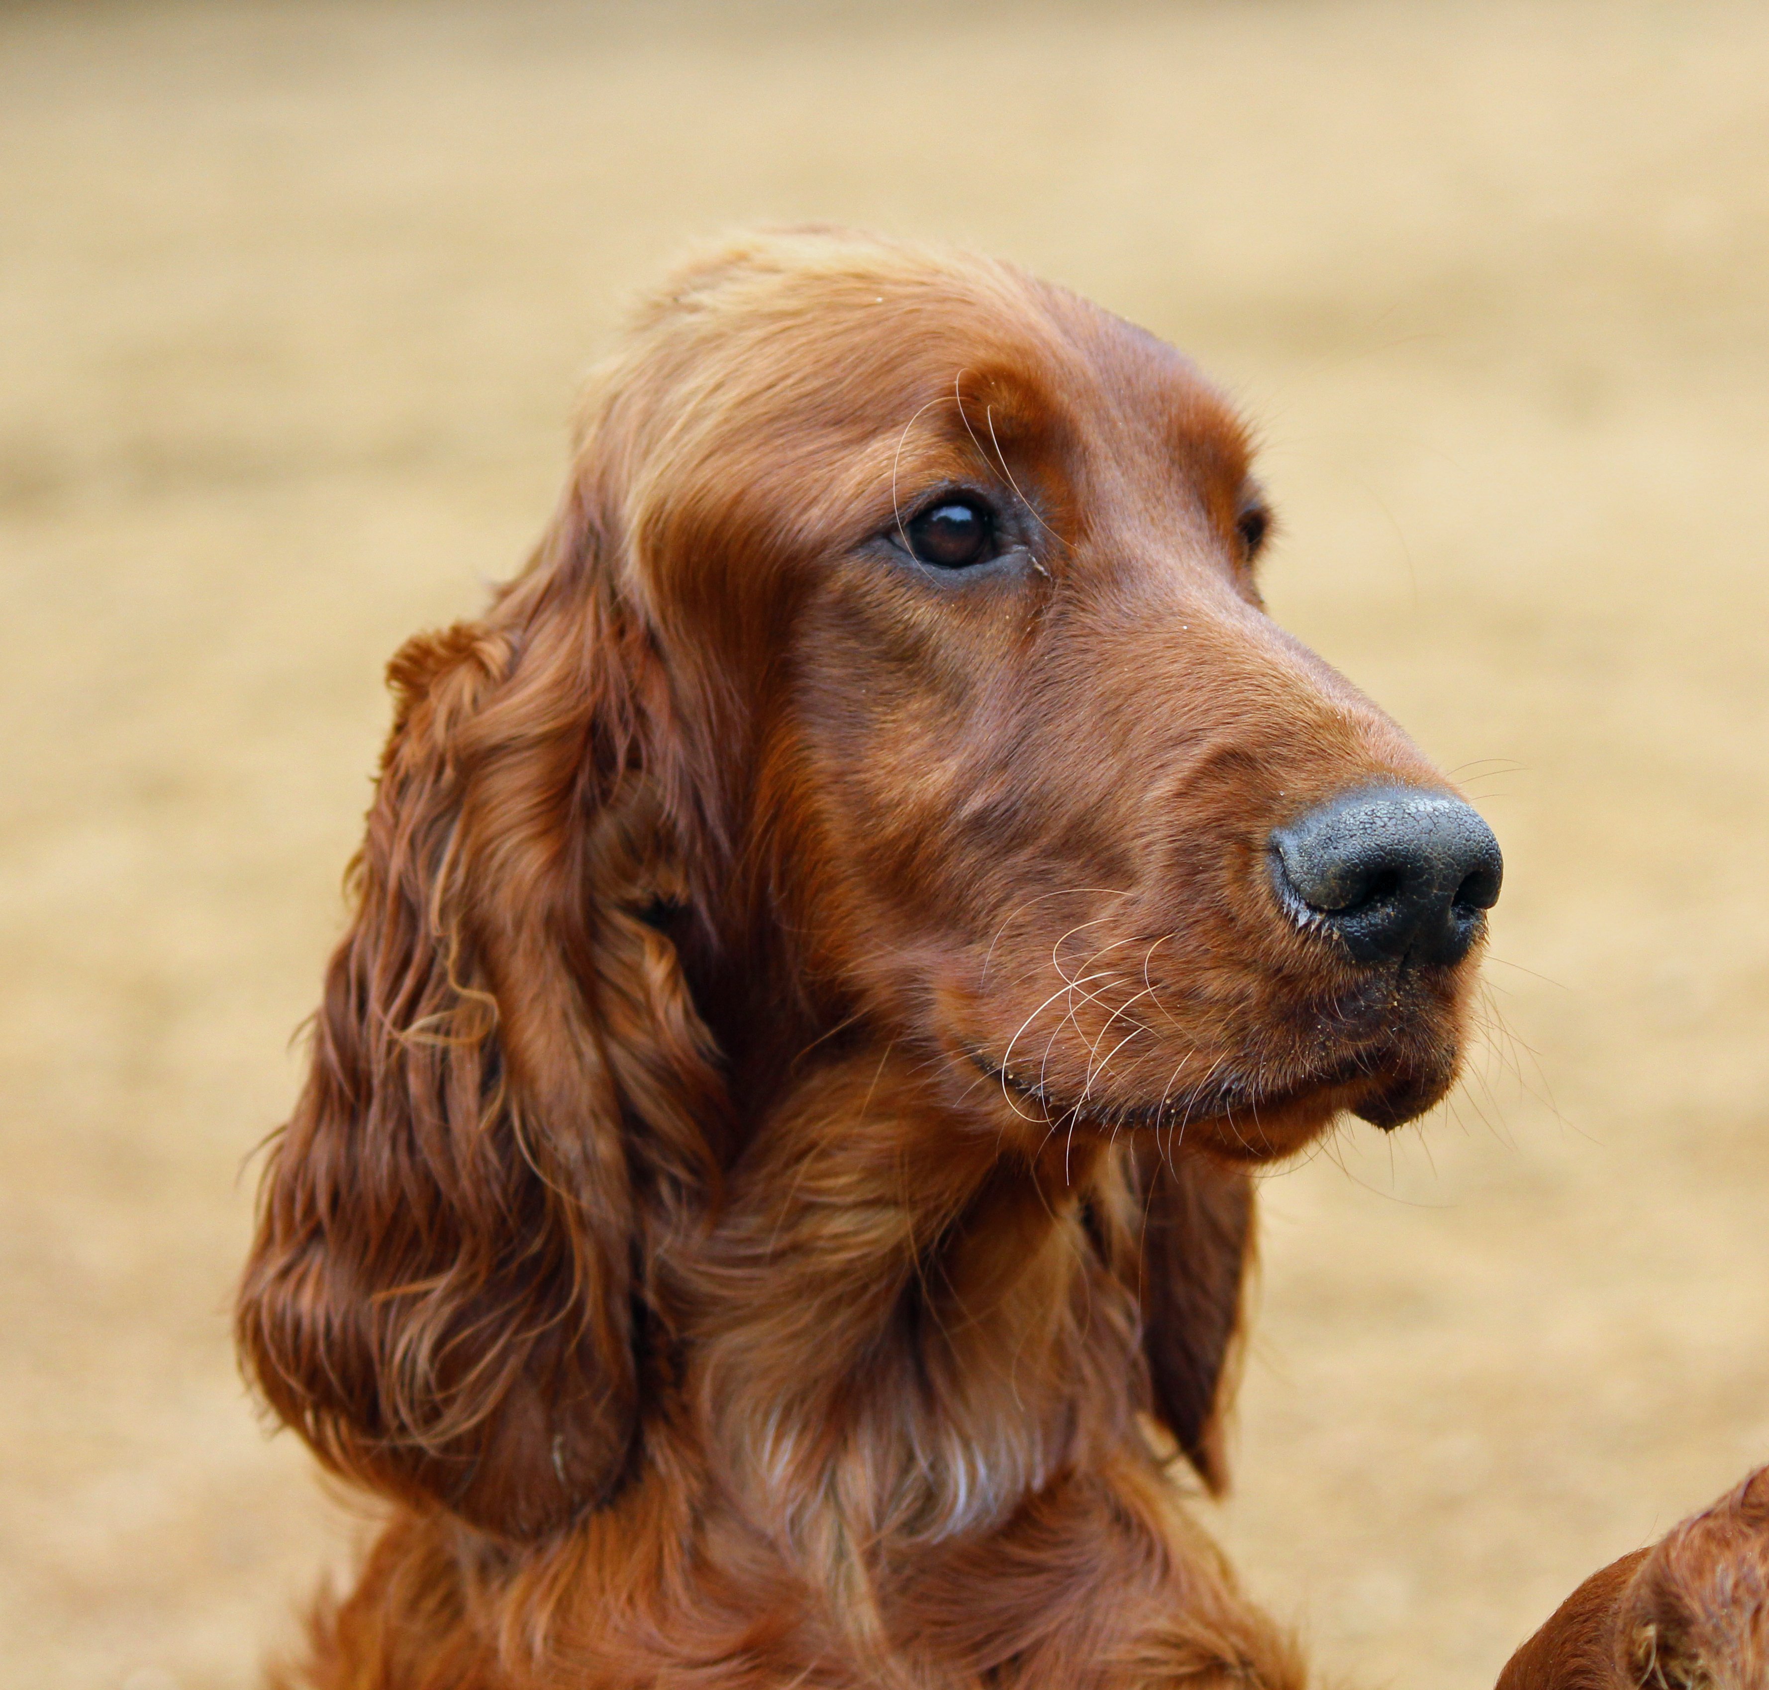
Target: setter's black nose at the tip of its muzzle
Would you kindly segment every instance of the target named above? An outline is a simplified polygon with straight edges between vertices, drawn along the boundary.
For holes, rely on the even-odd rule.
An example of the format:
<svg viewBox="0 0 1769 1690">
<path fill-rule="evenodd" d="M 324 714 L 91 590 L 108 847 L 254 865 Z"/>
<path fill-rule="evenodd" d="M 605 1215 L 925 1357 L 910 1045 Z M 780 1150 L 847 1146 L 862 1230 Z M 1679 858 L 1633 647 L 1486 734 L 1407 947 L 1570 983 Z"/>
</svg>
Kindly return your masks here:
<svg viewBox="0 0 1769 1690">
<path fill-rule="evenodd" d="M 1339 934 L 1360 963 L 1459 963 L 1504 871 L 1493 830 L 1445 793 L 1350 793 L 1272 833 L 1290 915 Z"/>
</svg>

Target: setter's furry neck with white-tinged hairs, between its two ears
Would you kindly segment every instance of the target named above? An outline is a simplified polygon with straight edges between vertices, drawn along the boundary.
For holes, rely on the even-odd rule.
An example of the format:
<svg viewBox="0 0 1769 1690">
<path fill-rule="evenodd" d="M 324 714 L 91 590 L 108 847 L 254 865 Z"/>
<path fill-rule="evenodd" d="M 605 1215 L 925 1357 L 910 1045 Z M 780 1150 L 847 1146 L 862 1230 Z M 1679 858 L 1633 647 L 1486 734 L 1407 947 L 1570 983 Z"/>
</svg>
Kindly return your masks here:
<svg viewBox="0 0 1769 1690">
<path fill-rule="evenodd" d="M 1136 1310 L 1106 1260 L 1113 1171 L 1097 1138 L 1015 1152 L 888 1049 L 807 1078 L 692 1274 L 725 1483 L 807 1552 L 831 1509 L 888 1552 L 1005 1518 L 1122 1439 Z"/>
</svg>

